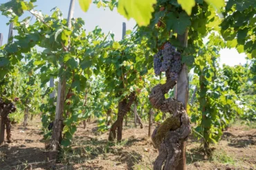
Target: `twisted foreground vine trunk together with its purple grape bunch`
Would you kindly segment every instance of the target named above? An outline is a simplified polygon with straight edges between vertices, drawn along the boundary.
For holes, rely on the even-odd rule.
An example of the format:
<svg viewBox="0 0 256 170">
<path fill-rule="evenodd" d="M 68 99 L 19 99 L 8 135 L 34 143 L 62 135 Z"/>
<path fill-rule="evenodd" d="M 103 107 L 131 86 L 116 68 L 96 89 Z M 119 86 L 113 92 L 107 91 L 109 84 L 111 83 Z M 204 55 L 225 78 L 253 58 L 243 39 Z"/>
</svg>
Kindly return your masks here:
<svg viewBox="0 0 256 170">
<path fill-rule="evenodd" d="M 165 84 L 158 84 L 152 89 L 149 100 L 156 109 L 172 115 L 152 134 L 154 146 L 159 151 L 154 169 L 161 169 L 163 162 L 166 162 L 165 169 L 175 169 L 181 155 L 181 142 L 190 134 L 190 121 L 183 104 L 173 98 L 165 98 L 165 94 L 176 85 L 181 66 L 181 53 L 169 42 L 165 43 L 163 50 L 154 55 L 155 74 L 165 72 L 167 80 Z"/>
</svg>

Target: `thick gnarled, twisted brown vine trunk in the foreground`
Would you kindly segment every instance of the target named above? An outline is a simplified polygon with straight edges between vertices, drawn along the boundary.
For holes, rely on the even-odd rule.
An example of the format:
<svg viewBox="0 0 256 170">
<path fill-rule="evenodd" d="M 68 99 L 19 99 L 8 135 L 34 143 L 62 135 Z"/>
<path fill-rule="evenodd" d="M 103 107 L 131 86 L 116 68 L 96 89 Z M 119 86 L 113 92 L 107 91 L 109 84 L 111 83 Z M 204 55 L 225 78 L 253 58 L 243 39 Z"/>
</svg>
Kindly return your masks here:
<svg viewBox="0 0 256 170">
<path fill-rule="evenodd" d="M 163 113 L 169 112 L 172 117 L 167 118 L 152 134 L 154 146 L 159 154 L 154 162 L 154 170 L 177 169 L 183 149 L 183 141 L 190 134 L 190 121 L 183 104 L 173 98 L 165 98 L 165 94 L 172 89 L 176 81 L 172 81 L 166 72 L 165 84 L 156 85 L 149 96 L 150 103 Z M 178 170 L 178 169 L 177 169 Z"/>
</svg>

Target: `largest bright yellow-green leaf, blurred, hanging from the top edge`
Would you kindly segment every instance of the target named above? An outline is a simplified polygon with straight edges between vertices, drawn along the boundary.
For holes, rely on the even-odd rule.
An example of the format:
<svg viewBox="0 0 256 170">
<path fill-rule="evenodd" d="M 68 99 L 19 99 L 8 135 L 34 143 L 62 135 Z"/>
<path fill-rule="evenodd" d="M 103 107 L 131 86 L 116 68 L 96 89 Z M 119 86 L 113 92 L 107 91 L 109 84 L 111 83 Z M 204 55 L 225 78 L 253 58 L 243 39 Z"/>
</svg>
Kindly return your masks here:
<svg viewBox="0 0 256 170">
<path fill-rule="evenodd" d="M 139 26 L 147 26 L 154 12 L 156 0 L 119 0 L 118 12 L 125 18 L 134 18 Z"/>
</svg>

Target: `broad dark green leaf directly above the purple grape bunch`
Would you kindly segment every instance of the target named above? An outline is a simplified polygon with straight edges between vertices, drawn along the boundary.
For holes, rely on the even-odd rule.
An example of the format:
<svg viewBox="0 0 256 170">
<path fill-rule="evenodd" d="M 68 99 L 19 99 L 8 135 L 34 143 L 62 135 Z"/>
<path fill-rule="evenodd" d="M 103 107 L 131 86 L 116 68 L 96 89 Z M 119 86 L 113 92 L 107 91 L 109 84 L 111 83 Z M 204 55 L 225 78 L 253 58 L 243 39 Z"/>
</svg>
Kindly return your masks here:
<svg viewBox="0 0 256 170">
<path fill-rule="evenodd" d="M 185 12 L 179 13 L 176 17 L 174 12 L 169 12 L 167 14 L 167 30 L 174 30 L 178 34 L 183 34 L 188 26 L 191 25 L 190 17 Z"/>
</svg>

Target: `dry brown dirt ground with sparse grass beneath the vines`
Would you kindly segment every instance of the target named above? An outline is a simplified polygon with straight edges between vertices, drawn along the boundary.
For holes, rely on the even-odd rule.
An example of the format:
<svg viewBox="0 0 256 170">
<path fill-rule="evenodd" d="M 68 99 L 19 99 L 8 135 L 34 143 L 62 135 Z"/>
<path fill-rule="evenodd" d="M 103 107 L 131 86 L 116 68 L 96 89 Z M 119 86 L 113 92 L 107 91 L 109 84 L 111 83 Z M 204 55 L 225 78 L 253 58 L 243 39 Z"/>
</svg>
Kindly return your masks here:
<svg viewBox="0 0 256 170">
<path fill-rule="evenodd" d="M 12 140 L 0 147 L 0 169 L 48 169 L 45 144 L 40 123 L 34 122 L 24 130 L 13 125 Z M 148 126 L 125 127 L 118 145 L 107 141 L 108 132 L 98 134 L 97 123 L 77 129 L 71 149 L 66 149 L 56 169 L 153 169 L 158 155 L 150 138 Z M 198 140 L 187 142 L 187 169 L 256 169 L 256 129 L 245 126 L 224 131 L 218 145 L 212 145 L 212 158 L 207 158 Z"/>
</svg>

